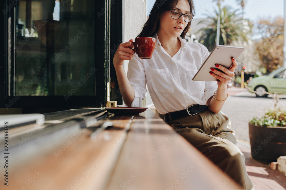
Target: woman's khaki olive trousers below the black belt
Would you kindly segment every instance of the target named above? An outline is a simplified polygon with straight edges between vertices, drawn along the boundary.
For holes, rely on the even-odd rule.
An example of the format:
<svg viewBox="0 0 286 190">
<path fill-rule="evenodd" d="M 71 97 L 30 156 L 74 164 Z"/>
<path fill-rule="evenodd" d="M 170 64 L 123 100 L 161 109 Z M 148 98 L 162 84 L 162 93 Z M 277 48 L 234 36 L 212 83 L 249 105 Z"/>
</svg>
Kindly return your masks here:
<svg viewBox="0 0 286 190">
<path fill-rule="evenodd" d="M 206 110 L 198 115 L 166 122 L 244 189 L 254 190 L 245 158 L 234 137 L 229 117 Z"/>
</svg>

